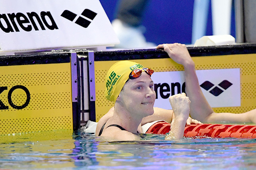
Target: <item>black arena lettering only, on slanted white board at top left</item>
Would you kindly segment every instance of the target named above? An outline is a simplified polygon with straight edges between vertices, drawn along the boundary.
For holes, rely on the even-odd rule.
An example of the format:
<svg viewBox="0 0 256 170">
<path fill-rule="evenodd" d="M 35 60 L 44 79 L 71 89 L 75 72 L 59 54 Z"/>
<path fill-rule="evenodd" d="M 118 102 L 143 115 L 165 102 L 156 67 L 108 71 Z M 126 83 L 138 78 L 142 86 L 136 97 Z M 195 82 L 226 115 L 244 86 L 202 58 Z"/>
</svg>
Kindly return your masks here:
<svg viewBox="0 0 256 170">
<path fill-rule="evenodd" d="M 19 27 L 18 27 L 19 25 Z M 49 30 L 58 29 L 53 16 L 49 11 L 42 11 L 39 15 L 35 12 L 30 13 L 12 13 L 12 14 L 0 14 L 0 28 L 6 32 L 20 32 L 20 29 L 24 31 L 34 30 Z"/>
</svg>

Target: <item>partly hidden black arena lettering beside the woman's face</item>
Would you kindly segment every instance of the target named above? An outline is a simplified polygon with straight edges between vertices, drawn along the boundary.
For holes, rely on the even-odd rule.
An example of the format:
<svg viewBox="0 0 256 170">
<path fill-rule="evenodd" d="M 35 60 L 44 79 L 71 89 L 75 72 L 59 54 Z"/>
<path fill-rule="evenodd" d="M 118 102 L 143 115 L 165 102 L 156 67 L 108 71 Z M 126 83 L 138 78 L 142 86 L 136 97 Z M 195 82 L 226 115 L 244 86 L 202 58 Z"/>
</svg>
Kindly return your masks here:
<svg viewBox="0 0 256 170">
<path fill-rule="evenodd" d="M 158 83 L 158 84 L 154 84 L 154 90 L 155 90 L 155 98 L 158 98 L 158 88 L 159 88 L 159 94 L 161 96 L 161 98 L 168 98 L 172 95 L 178 94 L 178 93 L 186 93 L 185 92 L 185 82 L 181 85 L 181 83 L 179 82 L 175 82 L 175 83 L 171 83 L 171 85 L 169 85 L 168 83 L 164 82 L 164 83 Z M 175 93 L 175 91 L 177 93 Z M 170 93 L 168 93 L 170 92 Z"/>
</svg>

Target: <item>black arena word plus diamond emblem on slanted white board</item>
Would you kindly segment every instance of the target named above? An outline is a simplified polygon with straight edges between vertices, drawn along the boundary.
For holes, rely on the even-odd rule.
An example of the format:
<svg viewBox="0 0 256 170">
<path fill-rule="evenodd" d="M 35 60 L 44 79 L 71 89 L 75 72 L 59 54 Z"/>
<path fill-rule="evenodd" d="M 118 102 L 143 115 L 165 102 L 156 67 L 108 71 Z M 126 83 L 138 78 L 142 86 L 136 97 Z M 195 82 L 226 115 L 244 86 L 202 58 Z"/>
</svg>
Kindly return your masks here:
<svg viewBox="0 0 256 170">
<path fill-rule="evenodd" d="M 90 20 L 93 20 L 97 13 L 91 11 L 90 9 L 84 9 L 81 14 Z M 62 14 L 62 17 L 73 21 L 77 14 L 72 13 L 71 11 L 65 10 Z M 82 18 L 81 16 L 75 21 L 76 24 L 87 28 L 91 21 Z M 0 28 L 6 32 L 20 32 L 20 29 L 30 32 L 34 30 L 55 30 L 59 29 L 53 16 L 51 15 L 50 11 L 42 11 L 40 15 L 35 12 L 30 13 L 8 13 L 8 14 L 0 14 Z"/>
</svg>

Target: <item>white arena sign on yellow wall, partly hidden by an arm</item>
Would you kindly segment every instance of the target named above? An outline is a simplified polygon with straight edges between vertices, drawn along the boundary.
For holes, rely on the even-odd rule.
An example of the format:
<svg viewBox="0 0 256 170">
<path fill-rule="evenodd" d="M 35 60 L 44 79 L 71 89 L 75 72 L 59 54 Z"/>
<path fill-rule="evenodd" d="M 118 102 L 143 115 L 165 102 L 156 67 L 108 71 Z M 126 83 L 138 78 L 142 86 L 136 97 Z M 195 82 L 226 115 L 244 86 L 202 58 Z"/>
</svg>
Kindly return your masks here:
<svg viewBox="0 0 256 170">
<path fill-rule="evenodd" d="M 196 70 L 199 85 L 211 107 L 241 106 L 240 68 Z M 183 71 L 155 72 L 155 107 L 171 109 L 168 97 L 185 92 Z"/>
</svg>

